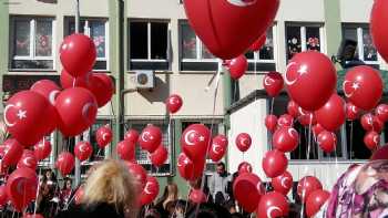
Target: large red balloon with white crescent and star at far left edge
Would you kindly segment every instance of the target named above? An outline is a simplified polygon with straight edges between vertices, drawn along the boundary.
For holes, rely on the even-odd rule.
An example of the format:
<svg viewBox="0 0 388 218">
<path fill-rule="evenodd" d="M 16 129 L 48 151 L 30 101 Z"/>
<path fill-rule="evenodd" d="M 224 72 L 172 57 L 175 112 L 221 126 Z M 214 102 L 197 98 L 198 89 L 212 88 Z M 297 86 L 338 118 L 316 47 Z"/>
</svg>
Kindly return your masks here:
<svg viewBox="0 0 388 218">
<path fill-rule="evenodd" d="M 58 121 L 50 102 L 32 91 L 18 92 L 8 100 L 3 118 L 10 134 L 24 146 L 34 145 L 49 135 Z"/>
</svg>

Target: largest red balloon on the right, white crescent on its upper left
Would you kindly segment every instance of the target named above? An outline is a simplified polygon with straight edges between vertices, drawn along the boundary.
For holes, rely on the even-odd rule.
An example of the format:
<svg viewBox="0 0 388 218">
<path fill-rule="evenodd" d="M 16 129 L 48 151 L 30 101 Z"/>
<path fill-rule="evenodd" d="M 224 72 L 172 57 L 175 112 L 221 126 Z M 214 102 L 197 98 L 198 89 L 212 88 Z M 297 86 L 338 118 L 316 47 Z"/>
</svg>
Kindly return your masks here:
<svg viewBox="0 0 388 218">
<path fill-rule="evenodd" d="M 330 98 L 337 73 L 330 59 L 316 51 L 300 52 L 288 63 L 285 83 L 289 96 L 304 110 L 316 111 Z"/>
</svg>

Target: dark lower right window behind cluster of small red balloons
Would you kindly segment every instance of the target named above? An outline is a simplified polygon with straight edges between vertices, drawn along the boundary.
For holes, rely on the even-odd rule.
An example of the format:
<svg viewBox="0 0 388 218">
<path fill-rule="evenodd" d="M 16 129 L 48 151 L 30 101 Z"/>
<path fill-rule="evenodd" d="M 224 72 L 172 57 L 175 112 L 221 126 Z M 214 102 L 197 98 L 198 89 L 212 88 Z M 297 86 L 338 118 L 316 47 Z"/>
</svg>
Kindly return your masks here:
<svg viewBox="0 0 388 218">
<path fill-rule="evenodd" d="M 270 105 L 272 102 L 268 101 L 268 105 Z M 277 97 L 274 102 L 274 112 L 276 116 L 280 116 L 285 113 L 287 113 L 287 104 L 288 104 L 288 97 L 282 96 Z M 325 154 L 318 146 L 316 138 L 314 137 L 313 133 L 308 129 L 308 126 L 303 126 L 299 123 L 294 123 L 294 128 L 299 134 L 299 144 L 298 147 L 290 153 L 290 159 L 294 160 L 307 160 L 307 159 L 326 159 L 326 160 L 334 160 L 335 157 L 339 159 L 347 158 L 347 147 L 346 142 L 343 141 L 345 138 L 345 128 L 340 128 L 336 135 L 337 135 L 337 147 L 336 150 L 330 154 Z M 269 133 L 268 133 L 269 134 Z M 272 138 L 272 136 L 269 137 Z M 310 143 L 309 147 L 309 154 L 308 154 L 308 142 Z"/>
</svg>

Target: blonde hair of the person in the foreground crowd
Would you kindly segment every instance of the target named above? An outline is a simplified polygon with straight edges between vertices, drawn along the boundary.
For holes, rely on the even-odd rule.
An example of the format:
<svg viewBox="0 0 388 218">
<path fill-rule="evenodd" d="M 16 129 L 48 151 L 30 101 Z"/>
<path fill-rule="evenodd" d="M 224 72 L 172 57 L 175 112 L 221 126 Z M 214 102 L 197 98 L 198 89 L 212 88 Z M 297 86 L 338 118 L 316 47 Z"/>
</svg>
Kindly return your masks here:
<svg viewBox="0 0 388 218">
<path fill-rule="evenodd" d="M 118 212 L 134 215 L 136 209 L 136 191 L 134 179 L 129 169 L 120 160 L 106 159 L 98 164 L 89 176 L 82 203 L 86 206 L 106 203 L 114 205 Z"/>
</svg>

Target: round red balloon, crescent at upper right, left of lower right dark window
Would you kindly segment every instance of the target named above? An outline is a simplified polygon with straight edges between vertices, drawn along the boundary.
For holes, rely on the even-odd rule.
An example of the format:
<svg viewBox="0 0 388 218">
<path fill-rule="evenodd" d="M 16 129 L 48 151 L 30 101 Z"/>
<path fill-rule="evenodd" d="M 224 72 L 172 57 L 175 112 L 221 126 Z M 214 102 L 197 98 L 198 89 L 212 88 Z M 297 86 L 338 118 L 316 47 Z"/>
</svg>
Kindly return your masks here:
<svg viewBox="0 0 388 218">
<path fill-rule="evenodd" d="M 293 152 L 298 146 L 299 134 L 293 127 L 280 127 L 275 132 L 272 143 L 280 152 Z"/>
</svg>

